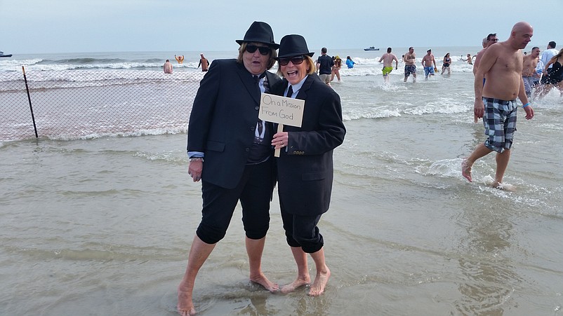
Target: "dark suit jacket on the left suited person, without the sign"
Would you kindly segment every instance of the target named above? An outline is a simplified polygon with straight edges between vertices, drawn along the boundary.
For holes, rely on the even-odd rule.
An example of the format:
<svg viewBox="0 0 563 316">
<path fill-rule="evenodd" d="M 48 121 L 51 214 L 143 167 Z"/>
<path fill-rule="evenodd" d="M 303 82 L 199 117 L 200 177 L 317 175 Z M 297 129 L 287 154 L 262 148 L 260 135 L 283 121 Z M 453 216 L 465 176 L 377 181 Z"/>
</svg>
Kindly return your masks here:
<svg viewBox="0 0 563 316">
<path fill-rule="evenodd" d="M 281 79 L 266 71 L 270 87 Z M 254 140 L 260 89 L 244 64 L 214 60 L 201 80 L 187 128 L 187 151 L 205 154 L 201 179 L 234 188 Z M 269 128 L 273 131 L 273 128 Z M 266 136 L 270 143 L 272 133 Z"/>
</svg>

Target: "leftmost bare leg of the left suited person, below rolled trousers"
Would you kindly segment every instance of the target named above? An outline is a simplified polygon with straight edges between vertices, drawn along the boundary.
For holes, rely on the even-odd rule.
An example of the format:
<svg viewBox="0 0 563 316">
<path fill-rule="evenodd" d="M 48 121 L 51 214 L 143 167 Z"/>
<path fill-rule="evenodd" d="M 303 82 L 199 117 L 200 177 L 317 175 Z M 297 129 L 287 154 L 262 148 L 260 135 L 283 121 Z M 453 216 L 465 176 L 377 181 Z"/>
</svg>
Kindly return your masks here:
<svg viewBox="0 0 563 316">
<path fill-rule="evenodd" d="M 194 236 L 192 248 L 187 258 L 186 273 L 178 285 L 178 313 L 182 316 L 195 315 L 192 293 L 194 291 L 195 277 L 201 266 L 207 260 L 216 244 L 206 244 L 197 235 Z"/>
</svg>

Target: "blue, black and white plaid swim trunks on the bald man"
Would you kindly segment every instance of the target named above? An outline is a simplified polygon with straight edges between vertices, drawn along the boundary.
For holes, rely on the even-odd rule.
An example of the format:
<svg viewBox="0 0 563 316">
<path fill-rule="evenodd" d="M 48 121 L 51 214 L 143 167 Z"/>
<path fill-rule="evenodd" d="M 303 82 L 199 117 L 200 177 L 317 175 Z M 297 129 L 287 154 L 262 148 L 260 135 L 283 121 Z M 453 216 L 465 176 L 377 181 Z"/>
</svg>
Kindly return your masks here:
<svg viewBox="0 0 563 316">
<path fill-rule="evenodd" d="M 492 151 L 502 153 L 512 146 L 512 139 L 516 131 L 516 100 L 505 101 L 483 97 L 485 112 L 483 125 L 485 126 L 485 146 Z"/>
</svg>

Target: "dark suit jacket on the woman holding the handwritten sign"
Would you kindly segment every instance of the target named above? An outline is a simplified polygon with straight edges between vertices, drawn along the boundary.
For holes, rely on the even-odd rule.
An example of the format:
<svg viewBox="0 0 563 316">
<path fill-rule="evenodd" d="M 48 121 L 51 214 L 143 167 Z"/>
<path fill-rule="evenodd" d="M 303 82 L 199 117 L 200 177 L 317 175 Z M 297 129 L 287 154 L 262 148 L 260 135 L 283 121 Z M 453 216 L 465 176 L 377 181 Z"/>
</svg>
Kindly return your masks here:
<svg viewBox="0 0 563 316">
<path fill-rule="evenodd" d="M 283 95 L 287 81 L 272 86 Z M 333 181 L 333 149 L 344 141 L 340 96 L 310 74 L 296 96 L 305 100 L 300 128 L 284 125 L 289 144 L 277 159 L 278 193 L 286 212 L 317 215 L 329 209 Z"/>
</svg>

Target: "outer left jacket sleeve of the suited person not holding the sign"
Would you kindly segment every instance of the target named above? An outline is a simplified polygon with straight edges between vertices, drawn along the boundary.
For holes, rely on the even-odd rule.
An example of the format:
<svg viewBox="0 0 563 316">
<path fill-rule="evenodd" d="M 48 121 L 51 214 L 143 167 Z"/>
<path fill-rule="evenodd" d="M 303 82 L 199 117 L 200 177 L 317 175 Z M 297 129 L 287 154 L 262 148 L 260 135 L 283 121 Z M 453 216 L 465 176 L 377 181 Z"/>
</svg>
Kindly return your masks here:
<svg viewBox="0 0 563 316">
<path fill-rule="evenodd" d="M 199 83 L 187 126 L 187 151 L 204 152 L 206 149 L 209 126 L 219 93 L 220 72 L 220 62 L 213 62 Z"/>
</svg>

